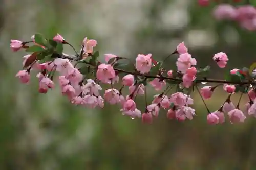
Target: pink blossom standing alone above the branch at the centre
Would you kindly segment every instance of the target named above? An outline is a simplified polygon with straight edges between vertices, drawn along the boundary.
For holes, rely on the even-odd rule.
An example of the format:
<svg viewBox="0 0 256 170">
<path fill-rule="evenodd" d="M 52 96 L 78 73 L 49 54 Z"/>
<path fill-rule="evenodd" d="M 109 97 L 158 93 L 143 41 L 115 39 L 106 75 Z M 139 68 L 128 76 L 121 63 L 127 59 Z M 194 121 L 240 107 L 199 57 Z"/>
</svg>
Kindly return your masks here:
<svg viewBox="0 0 256 170">
<path fill-rule="evenodd" d="M 151 66 L 152 66 L 152 60 L 151 60 L 152 54 L 144 55 L 139 54 L 136 58 L 136 69 L 144 74 L 150 72 Z"/>
</svg>

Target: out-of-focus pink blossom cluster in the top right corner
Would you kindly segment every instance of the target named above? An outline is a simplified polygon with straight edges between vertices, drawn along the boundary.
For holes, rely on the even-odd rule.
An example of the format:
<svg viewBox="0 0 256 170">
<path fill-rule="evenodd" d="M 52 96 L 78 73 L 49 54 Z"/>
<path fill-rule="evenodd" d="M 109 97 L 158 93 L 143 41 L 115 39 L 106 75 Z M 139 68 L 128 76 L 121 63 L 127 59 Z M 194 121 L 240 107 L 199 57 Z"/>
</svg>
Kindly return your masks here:
<svg viewBox="0 0 256 170">
<path fill-rule="evenodd" d="M 208 6 L 212 0 L 198 0 L 201 6 Z M 249 31 L 256 30 L 256 1 L 254 0 L 215 0 L 213 16 L 217 20 L 236 21 L 242 28 Z"/>
</svg>

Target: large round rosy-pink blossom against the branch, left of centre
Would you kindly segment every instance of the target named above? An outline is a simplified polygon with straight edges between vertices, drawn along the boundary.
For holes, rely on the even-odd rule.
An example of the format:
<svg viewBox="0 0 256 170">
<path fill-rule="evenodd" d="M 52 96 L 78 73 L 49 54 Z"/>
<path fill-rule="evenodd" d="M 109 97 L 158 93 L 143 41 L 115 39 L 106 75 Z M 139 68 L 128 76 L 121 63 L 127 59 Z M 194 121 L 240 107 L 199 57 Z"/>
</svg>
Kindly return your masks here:
<svg viewBox="0 0 256 170">
<path fill-rule="evenodd" d="M 96 73 L 97 79 L 106 82 L 116 76 L 115 70 L 110 64 L 100 64 Z"/>
</svg>

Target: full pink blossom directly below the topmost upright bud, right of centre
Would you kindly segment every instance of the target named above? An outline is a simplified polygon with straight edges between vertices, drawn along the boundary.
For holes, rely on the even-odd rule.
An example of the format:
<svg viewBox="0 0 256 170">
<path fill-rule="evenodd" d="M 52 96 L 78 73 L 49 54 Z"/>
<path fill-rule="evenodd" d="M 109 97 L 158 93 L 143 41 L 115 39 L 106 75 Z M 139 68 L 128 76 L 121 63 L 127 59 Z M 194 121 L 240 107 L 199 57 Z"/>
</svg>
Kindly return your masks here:
<svg viewBox="0 0 256 170">
<path fill-rule="evenodd" d="M 178 58 L 178 61 L 176 62 L 178 70 L 182 73 L 185 73 L 188 68 L 196 64 L 196 59 L 192 58 L 188 53 L 181 54 Z"/>
</svg>

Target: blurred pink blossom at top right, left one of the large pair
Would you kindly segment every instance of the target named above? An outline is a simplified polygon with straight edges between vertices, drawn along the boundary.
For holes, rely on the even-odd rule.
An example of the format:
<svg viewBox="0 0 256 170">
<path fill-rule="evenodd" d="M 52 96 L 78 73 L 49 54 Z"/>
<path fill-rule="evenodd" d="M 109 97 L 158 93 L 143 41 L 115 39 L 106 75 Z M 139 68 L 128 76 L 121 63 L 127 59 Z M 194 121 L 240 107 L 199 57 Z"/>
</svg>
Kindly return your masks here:
<svg viewBox="0 0 256 170">
<path fill-rule="evenodd" d="M 237 16 L 237 9 L 230 4 L 220 4 L 214 9 L 214 17 L 218 20 L 233 20 Z"/>
</svg>

